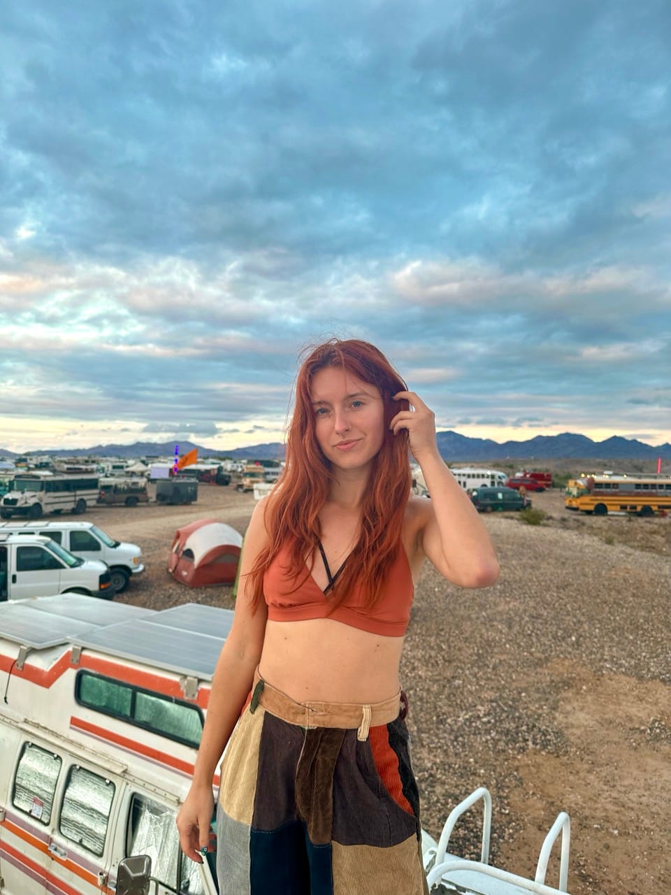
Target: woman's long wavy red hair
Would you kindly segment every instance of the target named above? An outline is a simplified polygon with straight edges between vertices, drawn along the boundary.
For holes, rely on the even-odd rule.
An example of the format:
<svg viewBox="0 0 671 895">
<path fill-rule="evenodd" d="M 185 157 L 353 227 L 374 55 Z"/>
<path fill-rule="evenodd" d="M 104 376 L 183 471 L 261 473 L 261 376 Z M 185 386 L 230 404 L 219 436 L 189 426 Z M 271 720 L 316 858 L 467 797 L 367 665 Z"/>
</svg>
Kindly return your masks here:
<svg viewBox="0 0 671 895">
<path fill-rule="evenodd" d="M 361 533 L 341 575 L 329 591 L 330 608 L 335 609 L 359 580 L 366 601 L 374 606 L 399 548 L 403 514 L 410 496 L 411 473 L 406 430 L 395 435 L 389 423 L 405 400 L 394 401 L 396 392 L 407 389 L 405 382 L 375 345 L 361 339 L 330 339 L 318 345 L 302 362 L 296 378 L 293 417 L 286 439 L 285 470 L 267 500 L 265 523 L 268 545 L 260 551 L 250 577 L 255 605 L 263 601 L 263 575 L 277 553 L 288 546 L 290 575 L 298 588 L 310 570 L 305 558 L 321 537 L 319 510 L 327 500 L 333 478 L 331 464 L 323 455 L 315 436 L 312 407 L 312 378 L 325 367 L 348 371 L 357 379 L 377 386 L 385 408 L 385 437 L 371 465 L 369 488 L 361 510 Z"/>
</svg>

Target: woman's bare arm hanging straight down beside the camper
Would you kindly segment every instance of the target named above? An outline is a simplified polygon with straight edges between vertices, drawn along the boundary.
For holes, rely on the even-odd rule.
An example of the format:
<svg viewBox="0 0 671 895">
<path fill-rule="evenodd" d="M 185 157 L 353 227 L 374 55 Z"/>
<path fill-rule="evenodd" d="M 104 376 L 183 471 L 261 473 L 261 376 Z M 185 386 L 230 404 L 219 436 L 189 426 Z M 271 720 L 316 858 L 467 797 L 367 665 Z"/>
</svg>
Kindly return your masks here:
<svg viewBox="0 0 671 895">
<path fill-rule="evenodd" d="M 251 567 L 267 542 L 263 523 L 264 504 L 265 499 L 262 499 L 254 507 L 245 534 L 234 622 L 219 654 L 212 679 L 208 713 L 200 737 L 191 789 L 177 816 L 180 845 L 184 854 L 197 863 L 202 862 L 200 849 L 209 844 L 209 826 L 214 809 L 212 777 L 250 692 L 266 633 L 266 604 L 262 603 L 256 612 L 252 612 L 249 581 Z"/>
</svg>

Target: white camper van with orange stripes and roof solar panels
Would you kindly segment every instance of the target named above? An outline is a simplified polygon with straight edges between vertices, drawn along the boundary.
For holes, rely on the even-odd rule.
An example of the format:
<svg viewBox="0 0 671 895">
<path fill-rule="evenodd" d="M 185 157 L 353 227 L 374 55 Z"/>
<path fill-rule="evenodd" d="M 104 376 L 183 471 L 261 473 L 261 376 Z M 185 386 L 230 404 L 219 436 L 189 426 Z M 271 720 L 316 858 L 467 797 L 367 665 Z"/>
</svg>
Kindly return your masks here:
<svg viewBox="0 0 671 895">
<path fill-rule="evenodd" d="M 232 623 L 196 603 L 0 605 L 3 895 L 120 895 L 140 855 L 152 895 L 217 895 L 215 853 L 184 857 L 174 822 Z"/>
</svg>

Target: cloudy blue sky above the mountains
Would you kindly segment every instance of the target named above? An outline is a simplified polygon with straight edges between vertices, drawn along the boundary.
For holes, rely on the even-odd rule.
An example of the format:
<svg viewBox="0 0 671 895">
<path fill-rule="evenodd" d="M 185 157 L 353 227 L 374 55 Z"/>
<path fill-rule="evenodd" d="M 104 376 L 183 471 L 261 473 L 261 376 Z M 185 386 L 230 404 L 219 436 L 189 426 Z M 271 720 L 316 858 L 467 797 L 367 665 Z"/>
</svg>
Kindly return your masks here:
<svg viewBox="0 0 671 895">
<path fill-rule="evenodd" d="M 0 447 L 282 438 L 379 345 L 441 428 L 671 440 L 668 0 L 4 0 Z"/>
</svg>

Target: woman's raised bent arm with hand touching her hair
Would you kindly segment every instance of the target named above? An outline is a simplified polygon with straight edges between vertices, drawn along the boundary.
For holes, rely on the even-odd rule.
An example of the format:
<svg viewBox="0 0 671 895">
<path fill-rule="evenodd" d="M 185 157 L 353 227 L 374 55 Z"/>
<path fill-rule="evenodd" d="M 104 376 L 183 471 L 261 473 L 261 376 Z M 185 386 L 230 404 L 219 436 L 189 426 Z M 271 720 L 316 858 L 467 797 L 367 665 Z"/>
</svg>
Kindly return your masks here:
<svg viewBox="0 0 671 895">
<path fill-rule="evenodd" d="M 434 414 L 415 392 L 398 392 L 414 410 L 397 413 L 395 434 L 408 430 L 410 449 L 420 465 L 430 500 L 413 503 L 416 543 L 441 575 L 460 587 L 488 587 L 497 580 L 497 554 L 478 511 L 440 456 Z"/>
</svg>

